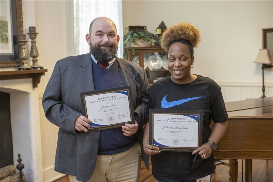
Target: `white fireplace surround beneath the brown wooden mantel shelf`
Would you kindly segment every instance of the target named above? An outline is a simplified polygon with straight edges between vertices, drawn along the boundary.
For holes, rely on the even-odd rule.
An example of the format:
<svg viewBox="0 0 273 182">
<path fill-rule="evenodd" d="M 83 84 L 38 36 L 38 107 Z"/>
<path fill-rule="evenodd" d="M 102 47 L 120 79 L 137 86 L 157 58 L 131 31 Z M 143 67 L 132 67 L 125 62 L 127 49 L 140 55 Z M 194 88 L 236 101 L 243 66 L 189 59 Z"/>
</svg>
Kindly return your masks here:
<svg viewBox="0 0 273 182">
<path fill-rule="evenodd" d="M 20 153 L 26 181 L 43 181 L 39 97 L 32 79 L 1 80 L 0 91 L 10 93 L 14 165 Z"/>
</svg>

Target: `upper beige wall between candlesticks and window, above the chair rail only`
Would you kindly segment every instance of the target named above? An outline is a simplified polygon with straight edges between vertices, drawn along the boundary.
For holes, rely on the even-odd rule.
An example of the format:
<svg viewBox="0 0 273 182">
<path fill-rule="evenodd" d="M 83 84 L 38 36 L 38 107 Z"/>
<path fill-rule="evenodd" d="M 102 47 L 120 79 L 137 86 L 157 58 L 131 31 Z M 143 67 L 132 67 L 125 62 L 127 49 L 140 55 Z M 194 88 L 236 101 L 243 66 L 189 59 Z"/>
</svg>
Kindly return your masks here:
<svg viewBox="0 0 273 182">
<path fill-rule="evenodd" d="M 43 93 L 57 60 L 67 56 L 66 1 L 35 1 L 35 24 L 39 64 L 48 72 L 41 77 Z"/>
</svg>

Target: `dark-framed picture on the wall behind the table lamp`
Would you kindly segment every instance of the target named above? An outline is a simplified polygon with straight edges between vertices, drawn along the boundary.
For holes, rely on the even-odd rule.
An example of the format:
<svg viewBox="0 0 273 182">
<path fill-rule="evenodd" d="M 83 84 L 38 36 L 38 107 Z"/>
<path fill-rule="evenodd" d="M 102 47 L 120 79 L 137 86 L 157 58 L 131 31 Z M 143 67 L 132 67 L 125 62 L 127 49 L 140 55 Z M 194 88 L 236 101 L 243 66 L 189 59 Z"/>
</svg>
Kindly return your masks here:
<svg viewBox="0 0 273 182">
<path fill-rule="evenodd" d="M 271 64 L 266 64 L 265 69 L 273 70 L 273 28 L 263 29 L 263 49 L 268 50 L 268 55 L 271 60 Z"/>
</svg>

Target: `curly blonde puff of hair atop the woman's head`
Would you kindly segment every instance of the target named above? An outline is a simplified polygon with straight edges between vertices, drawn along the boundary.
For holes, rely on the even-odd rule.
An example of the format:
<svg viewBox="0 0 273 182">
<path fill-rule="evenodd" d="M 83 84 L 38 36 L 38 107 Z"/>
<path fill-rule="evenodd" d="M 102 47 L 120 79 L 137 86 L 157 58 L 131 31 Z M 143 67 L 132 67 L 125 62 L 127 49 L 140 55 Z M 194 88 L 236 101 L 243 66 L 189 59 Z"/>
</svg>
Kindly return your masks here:
<svg viewBox="0 0 273 182">
<path fill-rule="evenodd" d="M 175 40 L 187 40 L 196 48 L 200 42 L 199 30 L 189 22 L 180 22 L 167 28 L 161 39 L 161 47 L 166 52 L 169 49 L 170 43 Z"/>
</svg>

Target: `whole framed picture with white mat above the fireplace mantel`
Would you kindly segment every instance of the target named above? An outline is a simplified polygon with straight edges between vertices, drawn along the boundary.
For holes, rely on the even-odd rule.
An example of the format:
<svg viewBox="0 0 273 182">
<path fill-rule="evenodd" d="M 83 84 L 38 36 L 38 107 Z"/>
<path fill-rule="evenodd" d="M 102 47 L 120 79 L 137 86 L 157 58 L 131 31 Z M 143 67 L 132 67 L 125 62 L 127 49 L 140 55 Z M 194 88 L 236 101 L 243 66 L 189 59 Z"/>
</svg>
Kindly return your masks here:
<svg viewBox="0 0 273 182">
<path fill-rule="evenodd" d="M 0 1 L 0 67 L 19 67 L 17 35 L 23 33 L 22 0 Z"/>
</svg>

